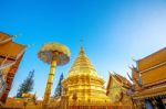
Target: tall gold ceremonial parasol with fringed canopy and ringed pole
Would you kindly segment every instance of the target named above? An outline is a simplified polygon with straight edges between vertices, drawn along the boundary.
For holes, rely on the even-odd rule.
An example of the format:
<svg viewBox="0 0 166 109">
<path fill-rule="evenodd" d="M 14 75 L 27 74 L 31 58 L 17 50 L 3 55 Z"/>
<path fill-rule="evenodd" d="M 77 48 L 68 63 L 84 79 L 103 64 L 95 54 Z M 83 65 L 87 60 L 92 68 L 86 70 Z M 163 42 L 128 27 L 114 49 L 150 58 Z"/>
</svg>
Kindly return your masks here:
<svg viewBox="0 0 166 109">
<path fill-rule="evenodd" d="M 39 52 L 39 57 L 51 64 L 48 84 L 44 92 L 43 109 L 48 109 L 50 102 L 51 89 L 55 75 L 56 65 L 64 65 L 70 61 L 70 50 L 59 43 L 48 43 Z"/>
</svg>

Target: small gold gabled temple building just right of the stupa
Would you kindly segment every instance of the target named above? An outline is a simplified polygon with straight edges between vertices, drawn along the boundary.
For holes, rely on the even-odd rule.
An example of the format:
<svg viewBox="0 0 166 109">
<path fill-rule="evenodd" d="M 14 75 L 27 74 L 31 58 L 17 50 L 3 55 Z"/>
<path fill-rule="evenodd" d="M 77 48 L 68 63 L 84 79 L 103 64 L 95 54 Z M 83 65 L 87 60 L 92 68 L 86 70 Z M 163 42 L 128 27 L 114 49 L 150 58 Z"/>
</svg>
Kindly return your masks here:
<svg viewBox="0 0 166 109">
<path fill-rule="evenodd" d="M 132 106 L 131 97 L 127 95 L 131 87 L 132 84 L 125 77 L 115 73 L 110 73 L 106 95 L 111 98 L 111 102 L 114 105 L 121 103 Z"/>
</svg>

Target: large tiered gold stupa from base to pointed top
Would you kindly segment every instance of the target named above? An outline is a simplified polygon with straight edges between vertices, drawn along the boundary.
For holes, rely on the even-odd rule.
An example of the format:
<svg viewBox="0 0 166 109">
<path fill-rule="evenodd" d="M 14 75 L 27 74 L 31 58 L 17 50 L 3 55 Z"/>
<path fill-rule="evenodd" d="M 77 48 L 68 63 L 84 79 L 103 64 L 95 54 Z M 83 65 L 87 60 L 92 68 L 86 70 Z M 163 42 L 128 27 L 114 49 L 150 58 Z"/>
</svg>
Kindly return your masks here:
<svg viewBox="0 0 166 109">
<path fill-rule="evenodd" d="M 104 106 L 110 103 L 104 80 L 97 75 L 85 55 L 83 46 L 62 85 L 63 95 L 68 96 L 69 106 Z"/>
</svg>

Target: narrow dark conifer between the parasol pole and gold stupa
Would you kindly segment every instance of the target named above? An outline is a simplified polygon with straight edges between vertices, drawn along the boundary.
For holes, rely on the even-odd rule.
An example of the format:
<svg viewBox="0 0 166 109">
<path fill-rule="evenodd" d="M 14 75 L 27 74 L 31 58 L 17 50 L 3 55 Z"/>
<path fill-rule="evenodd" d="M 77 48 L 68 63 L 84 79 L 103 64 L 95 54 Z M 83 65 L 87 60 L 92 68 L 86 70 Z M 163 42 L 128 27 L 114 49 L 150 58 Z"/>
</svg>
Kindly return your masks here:
<svg viewBox="0 0 166 109">
<path fill-rule="evenodd" d="M 61 74 L 59 83 L 58 83 L 58 86 L 55 88 L 54 98 L 61 96 L 61 92 L 62 92 L 62 80 L 63 80 L 63 73 Z"/>
</svg>

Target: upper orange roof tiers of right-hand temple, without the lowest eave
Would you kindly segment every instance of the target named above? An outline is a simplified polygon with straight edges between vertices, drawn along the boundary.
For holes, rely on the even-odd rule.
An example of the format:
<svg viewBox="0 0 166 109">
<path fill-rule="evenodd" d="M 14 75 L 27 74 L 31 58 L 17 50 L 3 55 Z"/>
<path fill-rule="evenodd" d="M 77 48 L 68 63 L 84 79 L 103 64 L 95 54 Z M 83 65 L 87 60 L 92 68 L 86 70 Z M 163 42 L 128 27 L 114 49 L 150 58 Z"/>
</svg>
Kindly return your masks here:
<svg viewBox="0 0 166 109">
<path fill-rule="evenodd" d="M 133 78 L 138 86 L 139 74 L 142 77 L 142 87 L 136 87 L 136 90 L 143 87 L 158 86 L 166 81 L 166 47 L 137 61 L 137 73 L 132 69 Z"/>
</svg>

